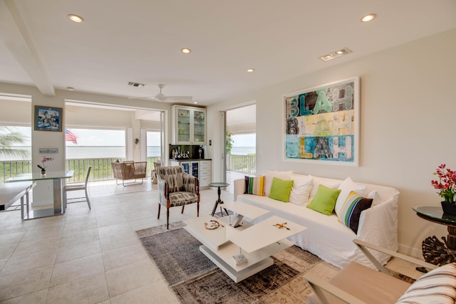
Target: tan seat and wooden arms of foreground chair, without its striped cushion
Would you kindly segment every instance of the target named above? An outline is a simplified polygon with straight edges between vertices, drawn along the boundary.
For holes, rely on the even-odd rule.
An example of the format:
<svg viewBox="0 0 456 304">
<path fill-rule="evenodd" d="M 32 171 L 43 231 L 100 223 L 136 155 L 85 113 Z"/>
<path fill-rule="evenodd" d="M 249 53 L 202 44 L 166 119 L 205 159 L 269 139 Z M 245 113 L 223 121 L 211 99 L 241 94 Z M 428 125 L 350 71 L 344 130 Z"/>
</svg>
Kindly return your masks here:
<svg viewBox="0 0 456 304">
<path fill-rule="evenodd" d="M 369 260 L 371 260 L 375 267 L 378 268 L 378 271 L 359 263 L 351 262 L 329 281 L 316 276 L 314 273 L 306 273 L 304 278 L 314 290 L 314 293 L 311 293 L 307 297 L 307 304 L 396 303 L 396 301 L 408 291 L 411 284 L 393 277 L 393 275 L 374 258 L 369 251 L 371 249 L 387 253 L 390 256 L 400 258 L 423 268 L 436 269 L 438 267 L 418 258 L 380 248 L 358 239 L 353 240 L 353 242 L 356 243 L 356 246 L 358 246 Z"/>
</svg>

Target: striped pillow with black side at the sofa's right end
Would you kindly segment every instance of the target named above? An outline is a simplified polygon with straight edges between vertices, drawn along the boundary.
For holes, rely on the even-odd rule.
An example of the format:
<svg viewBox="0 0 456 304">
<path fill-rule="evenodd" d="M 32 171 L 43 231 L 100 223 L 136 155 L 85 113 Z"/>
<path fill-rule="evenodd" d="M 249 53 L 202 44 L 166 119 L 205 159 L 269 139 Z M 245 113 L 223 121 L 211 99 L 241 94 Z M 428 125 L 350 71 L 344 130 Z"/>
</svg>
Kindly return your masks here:
<svg viewBox="0 0 456 304">
<path fill-rule="evenodd" d="M 350 192 L 338 212 L 339 221 L 357 234 L 361 212 L 371 208 L 372 201 L 373 199 L 366 199 L 354 191 Z"/>
</svg>

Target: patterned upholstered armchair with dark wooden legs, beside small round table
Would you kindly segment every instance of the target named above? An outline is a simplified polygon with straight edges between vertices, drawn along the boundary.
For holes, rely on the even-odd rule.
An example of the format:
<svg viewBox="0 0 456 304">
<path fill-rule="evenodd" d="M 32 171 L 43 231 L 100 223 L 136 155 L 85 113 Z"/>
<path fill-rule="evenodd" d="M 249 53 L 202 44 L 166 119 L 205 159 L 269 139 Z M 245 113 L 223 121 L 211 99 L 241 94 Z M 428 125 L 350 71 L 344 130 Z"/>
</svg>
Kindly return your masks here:
<svg viewBox="0 0 456 304">
<path fill-rule="evenodd" d="M 184 172 L 182 166 L 158 167 L 158 216 L 160 206 L 166 207 L 166 229 L 170 226 L 170 208 L 182 206 L 181 214 L 187 204 L 197 203 L 199 216 L 199 181 L 197 177 Z"/>
</svg>

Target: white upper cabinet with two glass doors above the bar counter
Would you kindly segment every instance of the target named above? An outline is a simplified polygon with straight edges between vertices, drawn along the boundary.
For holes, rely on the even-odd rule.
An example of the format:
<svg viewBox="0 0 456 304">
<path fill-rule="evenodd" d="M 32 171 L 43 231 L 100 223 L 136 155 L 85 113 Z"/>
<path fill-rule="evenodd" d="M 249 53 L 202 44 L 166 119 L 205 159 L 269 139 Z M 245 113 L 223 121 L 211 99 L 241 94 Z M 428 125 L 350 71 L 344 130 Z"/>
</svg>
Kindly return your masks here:
<svg viewBox="0 0 456 304">
<path fill-rule="evenodd" d="M 206 110 L 172 106 L 173 144 L 204 145 L 206 142 Z"/>
</svg>

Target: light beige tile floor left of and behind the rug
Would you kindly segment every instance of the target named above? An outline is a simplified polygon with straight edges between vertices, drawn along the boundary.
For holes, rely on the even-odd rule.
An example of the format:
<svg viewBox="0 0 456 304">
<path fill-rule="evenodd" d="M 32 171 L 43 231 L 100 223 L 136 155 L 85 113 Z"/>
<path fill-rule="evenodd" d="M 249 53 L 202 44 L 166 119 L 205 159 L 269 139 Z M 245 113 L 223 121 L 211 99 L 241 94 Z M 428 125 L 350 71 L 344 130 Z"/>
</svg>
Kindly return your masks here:
<svg viewBox="0 0 456 304">
<path fill-rule="evenodd" d="M 135 234 L 166 224 L 157 185 L 92 184 L 91 210 L 79 202 L 28 221 L 19 210 L 0 212 L 0 303 L 177 303 Z M 217 189 L 202 190 L 199 213 L 216 199 Z M 196 204 L 170 209 L 170 222 L 195 216 Z"/>
</svg>

